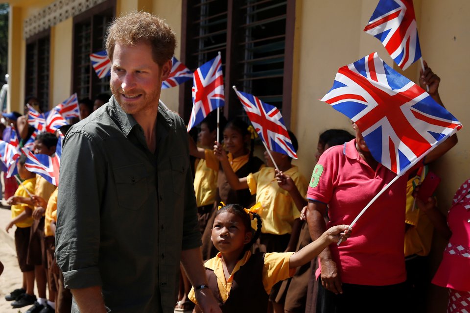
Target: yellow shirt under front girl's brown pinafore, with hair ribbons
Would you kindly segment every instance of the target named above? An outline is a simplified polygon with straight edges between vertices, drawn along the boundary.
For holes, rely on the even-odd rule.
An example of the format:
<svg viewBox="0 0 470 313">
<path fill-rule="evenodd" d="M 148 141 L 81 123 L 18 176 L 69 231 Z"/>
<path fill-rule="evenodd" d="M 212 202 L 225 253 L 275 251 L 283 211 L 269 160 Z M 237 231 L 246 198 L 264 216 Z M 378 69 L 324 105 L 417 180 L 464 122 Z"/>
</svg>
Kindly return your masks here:
<svg viewBox="0 0 470 313">
<path fill-rule="evenodd" d="M 264 255 L 264 266 L 263 266 L 263 286 L 266 293 L 269 294 L 274 284 L 282 281 L 286 278 L 292 277 L 296 271 L 296 268 L 289 268 L 289 259 L 294 252 L 284 253 L 266 253 Z M 234 270 L 230 274 L 230 277 L 225 280 L 224 268 L 222 265 L 222 254 L 219 252 L 217 256 L 208 260 L 204 266 L 214 271 L 217 276 L 217 288 L 219 289 L 220 299 L 225 303 L 230 295 L 230 289 L 232 288 L 232 282 L 234 280 L 234 274 L 240 269 L 241 266 L 250 259 L 251 252 L 247 251 L 245 256 L 237 262 Z M 246 286 L 249 288 L 249 286 Z M 196 297 L 194 294 L 194 288 L 191 288 L 188 294 L 189 300 L 196 303 Z"/>
</svg>

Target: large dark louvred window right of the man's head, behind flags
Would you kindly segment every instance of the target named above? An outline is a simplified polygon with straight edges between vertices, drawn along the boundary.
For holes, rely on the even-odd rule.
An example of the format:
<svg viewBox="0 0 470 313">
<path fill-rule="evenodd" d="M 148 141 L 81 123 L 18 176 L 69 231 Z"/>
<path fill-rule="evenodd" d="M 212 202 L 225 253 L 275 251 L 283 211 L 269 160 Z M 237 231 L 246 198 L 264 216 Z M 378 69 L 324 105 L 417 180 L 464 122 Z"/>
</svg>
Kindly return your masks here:
<svg viewBox="0 0 470 313">
<path fill-rule="evenodd" d="M 184 0 L 181 61 L 195 70 L 222 53 L 228 118 L 244 116 L 232 86 L 277 106 L 289 126 L 295 0 Z M 181 88 L 188 120 L 191 84 Z"/>
</svg>

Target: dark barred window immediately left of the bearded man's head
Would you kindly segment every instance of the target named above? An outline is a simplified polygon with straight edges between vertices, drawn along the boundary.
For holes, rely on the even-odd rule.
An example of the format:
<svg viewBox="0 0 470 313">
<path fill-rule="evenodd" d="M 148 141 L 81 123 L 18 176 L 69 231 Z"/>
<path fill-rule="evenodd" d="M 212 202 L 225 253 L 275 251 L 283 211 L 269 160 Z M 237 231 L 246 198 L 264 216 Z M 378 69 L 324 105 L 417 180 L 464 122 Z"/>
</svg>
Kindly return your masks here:
<svg viewBox="0 0 470 313">
<path fill-rule="evenodd" d="M 106 31 L 116 12 L 116 0 L 104 1 L 73 18 L 72 93 L 93 99 L 109 93 L 109 76 L 98 78 L 90 54 L 105 49 Z"/>
</svg>

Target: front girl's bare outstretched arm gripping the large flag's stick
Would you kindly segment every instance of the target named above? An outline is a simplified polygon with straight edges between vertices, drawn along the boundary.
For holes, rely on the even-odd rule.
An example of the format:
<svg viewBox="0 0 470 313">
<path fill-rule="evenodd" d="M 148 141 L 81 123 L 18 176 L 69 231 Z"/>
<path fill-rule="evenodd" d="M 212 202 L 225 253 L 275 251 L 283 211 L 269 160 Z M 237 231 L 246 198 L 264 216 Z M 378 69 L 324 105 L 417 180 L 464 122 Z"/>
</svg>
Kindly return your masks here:
<svg viewBox="0 0 470 313">
<path fill-rule="evenodd" d="M 340 239 L 346 241 L 351 236 L 348 225 L 337 225 L 331 227 L 323 233 L 317 240 L 310 242 L 308 245 L 295 252 L 290 256 L 289 267 L 299 267 L 310 262 L 320 254 L 329 244 L 338 242 Z"/>
</svg>

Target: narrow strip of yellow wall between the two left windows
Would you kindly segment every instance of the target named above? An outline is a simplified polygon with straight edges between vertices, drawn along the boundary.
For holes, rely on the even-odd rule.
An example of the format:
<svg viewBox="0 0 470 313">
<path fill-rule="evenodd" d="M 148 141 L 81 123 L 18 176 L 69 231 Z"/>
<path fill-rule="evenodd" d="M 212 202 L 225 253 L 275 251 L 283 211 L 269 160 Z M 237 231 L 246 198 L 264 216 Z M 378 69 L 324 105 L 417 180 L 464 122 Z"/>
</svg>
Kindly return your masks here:
<svg viewBox="0 0 470 313">
<path fill-rule="evenodd" d="M 70 96 L 72 69 L 72 26 L 69 18 L 50 31 L 50 103 L 49 107 L 61 103 Z"/>
</svg>

